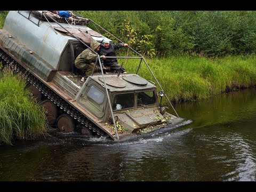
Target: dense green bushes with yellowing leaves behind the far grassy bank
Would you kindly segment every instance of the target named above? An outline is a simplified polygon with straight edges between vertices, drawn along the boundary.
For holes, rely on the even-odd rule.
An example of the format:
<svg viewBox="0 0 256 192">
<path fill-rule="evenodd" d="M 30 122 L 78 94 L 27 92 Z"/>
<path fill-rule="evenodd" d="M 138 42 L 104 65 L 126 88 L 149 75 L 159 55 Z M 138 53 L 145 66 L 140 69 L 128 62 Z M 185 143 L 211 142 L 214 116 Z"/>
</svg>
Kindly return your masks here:
<svg viewBox="0 0 256 192">
<path fill-rule="evenodd" d="M 256 51 L 255 11 L 78 11 L 148 56 Z M 93 26 L 90 26 L 93 28 Z M 103 33 L 105 34 L 105 33 Z"/>
</svg>

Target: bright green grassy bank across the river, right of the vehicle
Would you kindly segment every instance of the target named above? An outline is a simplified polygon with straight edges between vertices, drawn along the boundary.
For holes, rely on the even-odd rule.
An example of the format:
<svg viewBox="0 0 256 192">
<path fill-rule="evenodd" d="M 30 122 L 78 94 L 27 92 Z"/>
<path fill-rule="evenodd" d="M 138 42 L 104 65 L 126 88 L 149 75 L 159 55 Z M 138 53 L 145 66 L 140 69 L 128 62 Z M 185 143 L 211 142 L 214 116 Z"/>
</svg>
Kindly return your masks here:
<svg viewBox="0 0 256 192">
<path fill-rule="evenodd" d="M 202 100 L 211 95 L 255 86 L 255 59 L 256 55 L 251 54 L 215 59 L 180 56 L 146 61 L 167 97 L 172 102 L 182 102 Z M 135 72 L 138 63 L 139 61 L 127 60 L 124 67 L 129 72 Z M 144 63 L 139 75 L 156 83 Z"/>
</svg>

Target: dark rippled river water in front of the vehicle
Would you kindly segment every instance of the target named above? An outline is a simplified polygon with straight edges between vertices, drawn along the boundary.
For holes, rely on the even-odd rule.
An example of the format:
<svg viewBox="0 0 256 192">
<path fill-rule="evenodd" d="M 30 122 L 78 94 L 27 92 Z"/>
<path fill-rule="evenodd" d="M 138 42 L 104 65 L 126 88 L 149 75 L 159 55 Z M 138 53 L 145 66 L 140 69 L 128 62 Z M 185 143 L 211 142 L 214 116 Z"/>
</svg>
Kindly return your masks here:
<svg viewBox="0 0 256 192">
<path fill-rule="evenodd" d="M 256 181 L 255 93 L 176 105 L 181 126 L 129 140 L 67 133 L 1 145 L 0 181 Z"/>
</svg>

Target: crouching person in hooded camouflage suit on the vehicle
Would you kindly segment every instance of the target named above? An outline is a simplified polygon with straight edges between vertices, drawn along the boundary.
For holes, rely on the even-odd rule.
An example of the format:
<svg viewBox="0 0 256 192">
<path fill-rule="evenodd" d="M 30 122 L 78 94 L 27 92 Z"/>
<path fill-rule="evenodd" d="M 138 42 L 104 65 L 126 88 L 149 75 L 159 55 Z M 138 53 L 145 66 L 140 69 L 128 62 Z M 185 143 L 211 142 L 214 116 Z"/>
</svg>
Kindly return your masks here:
<svg viewBox="0 0 256 192">
<path fill-rule="evenodd" d="M 91 42 L 91 48 L 93 51 L 97 52 L 100 49 L 100 43 L 95 41 L 94 39 Z M 75 66 L 82 71 L 85 71 L 85 76 L 81 79 L 81 81 L 85 81 L 85 79 L 92 74 L 92 70 L 95 65 L 95 61 L 98 55 L 94 54 L 89 48 L 82 51 L 75 60 Z M 105 55 L 101 55 L 100 59 L 105 59 Z M 95 66 L 95 71 L 98 71 L 99 68 Z"/>
</svg>

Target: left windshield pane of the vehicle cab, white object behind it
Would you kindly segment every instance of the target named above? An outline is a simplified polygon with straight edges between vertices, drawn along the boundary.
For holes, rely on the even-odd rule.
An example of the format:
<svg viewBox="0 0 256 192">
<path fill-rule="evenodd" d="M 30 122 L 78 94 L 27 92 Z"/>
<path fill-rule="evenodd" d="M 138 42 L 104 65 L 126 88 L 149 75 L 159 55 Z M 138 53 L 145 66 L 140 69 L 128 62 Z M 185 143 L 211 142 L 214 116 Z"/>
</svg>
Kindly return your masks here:
<svg viewBox="0 0 256 192">
<path fill-rule="evenodd" d="M 113 110 L 122 110 L 134 107 L 134 93 L 116 94 L 113 102 Z"/>
</svg>

